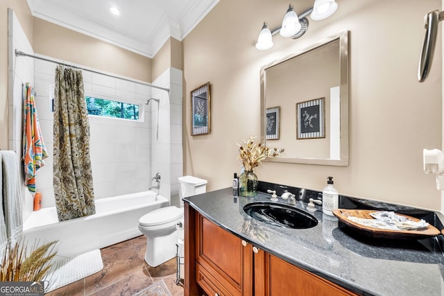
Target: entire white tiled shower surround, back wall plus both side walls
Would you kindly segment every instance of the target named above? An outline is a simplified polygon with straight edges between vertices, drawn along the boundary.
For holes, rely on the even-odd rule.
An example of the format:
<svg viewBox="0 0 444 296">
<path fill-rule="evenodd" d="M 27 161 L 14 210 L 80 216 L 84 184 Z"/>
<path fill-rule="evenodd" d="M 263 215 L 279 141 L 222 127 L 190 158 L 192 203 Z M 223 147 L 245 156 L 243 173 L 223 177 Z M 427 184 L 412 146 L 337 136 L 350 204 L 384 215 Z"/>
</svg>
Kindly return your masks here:
<svg viewBox="0 0 444 296">
<path fill-rule="evenodd" d="M 14 25 L 18 28 L 14 28 L 13 35 L 11 29 L 10 40 L 18 41 L 10 50 L 13 52 L 17 48 L 34 54 L 17 17 Z M 10 149 L 20 154 L 22 82 L 31 82 L 36 92 L 42 137 L 49 155 L 52 155 L 53 114 L 50 111 L 50 93 L 53 92 L 51 85 L 54 85 L 56 64 L 26 57 L 14 56 L 12 59 L 16 64 L 10 69 L 10 76 L 15 83 L 13 94 L 10 95 L 13 98 L 10 100 Z M 72 64 L 69 61 L 60 62 Z M 95 198 L 146 191 L 155 185 L 151 178 L 159 172 L 160 194 L 171 200 L 171 204 L 179 205 L 178 177 L 182 175 L 182 71 L 167 69 L 153 82 L 153 85 L 169 88 L 169 93 L 89 71 L 83 71 L 83 79 L 86 95 L 142 102 L 140 121 L 89 116 Z M 146 106 L 144 102 L 148 98 L 160 99 L 160 104 L 151 101 Z M 45 166 L 37 174 L 37 191 L 42 192 L 42 207 L 55 205 L 52 166 L 50 156 L 45 159 Z M 32 212 L 33 201 L 28 192 L 25 194 L 28 196 L 24 209 L 26 219 Z"/>
</svg>

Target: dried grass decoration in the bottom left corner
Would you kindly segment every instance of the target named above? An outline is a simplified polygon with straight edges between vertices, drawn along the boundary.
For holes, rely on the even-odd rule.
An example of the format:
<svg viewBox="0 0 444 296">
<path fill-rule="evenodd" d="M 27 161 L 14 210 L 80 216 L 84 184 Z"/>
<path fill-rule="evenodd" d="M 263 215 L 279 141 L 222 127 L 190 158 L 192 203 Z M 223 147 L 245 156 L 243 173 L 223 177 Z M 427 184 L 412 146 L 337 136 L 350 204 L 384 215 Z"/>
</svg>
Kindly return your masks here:
<svg viewBox="0 0 444 296">
<path fill-rule="evenodd" d="M 0 281 L 44 281 L 53 268 L 52 259 L 56 256 L 56 243 L 52 241 L 40 247 L 34 244 L 29 256 L 27 244 L 23 241 L 12 247 L 6 246 L 0 266 Z"/>
</svg>

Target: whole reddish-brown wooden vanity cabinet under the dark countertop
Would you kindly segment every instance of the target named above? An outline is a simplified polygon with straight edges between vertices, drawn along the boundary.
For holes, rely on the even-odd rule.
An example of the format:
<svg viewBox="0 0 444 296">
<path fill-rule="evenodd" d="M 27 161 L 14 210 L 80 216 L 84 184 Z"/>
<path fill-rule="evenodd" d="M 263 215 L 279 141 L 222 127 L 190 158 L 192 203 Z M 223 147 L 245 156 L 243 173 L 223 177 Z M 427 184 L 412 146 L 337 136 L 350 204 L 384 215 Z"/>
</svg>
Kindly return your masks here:
<svg viewBox="0 0 444 296">
<path fill-rule="evenodd" d="M 185 203 L 184 295 L 357 295 L 242 241 Z"/>
</svg>

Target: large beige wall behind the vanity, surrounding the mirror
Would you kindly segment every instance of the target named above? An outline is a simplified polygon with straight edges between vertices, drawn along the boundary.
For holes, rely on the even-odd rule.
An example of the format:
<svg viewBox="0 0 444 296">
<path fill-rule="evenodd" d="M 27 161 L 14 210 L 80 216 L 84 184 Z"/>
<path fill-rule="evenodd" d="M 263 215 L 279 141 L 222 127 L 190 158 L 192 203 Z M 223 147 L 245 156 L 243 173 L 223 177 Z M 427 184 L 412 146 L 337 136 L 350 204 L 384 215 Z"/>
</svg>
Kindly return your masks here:
<svg viewBox="0 0 444 296">
<path fill-rule="evenodd" d="M 345 195 L 441 209 L 434 176 L 422 172 L 422 149 L 441 148 L 441 36 L 429 79 L 416 80 L 423 17 L 440 9 L 441 0 L 337 2 L 335 15 L 309 19 L 308 32 L 298 40 L 274 36 L 268 51 L 255 49 L 257 35 L 265 20 L 279 26 L 287 1 L 220 1 L 187 35 L 184 173 L 207 179 L 210 191 L 230 186 L 240 166 L 237 143 L 260 132 L 260 67 L 348 28 L 350 166 L 268 162 L 255 170 L 259 180 L 322 190 L 332 175 Z M 311 3 L 293 5 L 300 12 Z M 191 137 L 189 92 L 207 81 L 212 132 Z"/>
</svg>

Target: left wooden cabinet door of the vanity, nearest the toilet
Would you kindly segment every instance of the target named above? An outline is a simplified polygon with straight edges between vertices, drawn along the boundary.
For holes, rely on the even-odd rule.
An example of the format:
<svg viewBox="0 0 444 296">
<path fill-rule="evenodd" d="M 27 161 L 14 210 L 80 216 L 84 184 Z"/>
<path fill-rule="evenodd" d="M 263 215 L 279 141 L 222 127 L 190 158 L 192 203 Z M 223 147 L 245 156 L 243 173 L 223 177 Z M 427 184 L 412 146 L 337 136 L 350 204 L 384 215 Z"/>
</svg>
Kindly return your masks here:
<svg viewBox="0 0 444 296">
<path fill-rule="evenodd" d="M 196 278 L 203 280 L 201 286 L 205 290 L 205 286 L 210 286 L 210 281 L 212 283 L 213 288 L 207 293 L 212 293 L 216 289 L 214 286 L 219 285 L 228 295 L 253 295 L 250 245 L 244 247 L 240 238 L 200 214 L 196 215 L 196 261 L 200 265 Z"/>
</svg>

